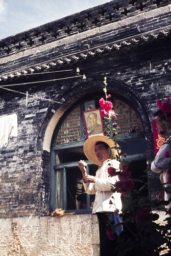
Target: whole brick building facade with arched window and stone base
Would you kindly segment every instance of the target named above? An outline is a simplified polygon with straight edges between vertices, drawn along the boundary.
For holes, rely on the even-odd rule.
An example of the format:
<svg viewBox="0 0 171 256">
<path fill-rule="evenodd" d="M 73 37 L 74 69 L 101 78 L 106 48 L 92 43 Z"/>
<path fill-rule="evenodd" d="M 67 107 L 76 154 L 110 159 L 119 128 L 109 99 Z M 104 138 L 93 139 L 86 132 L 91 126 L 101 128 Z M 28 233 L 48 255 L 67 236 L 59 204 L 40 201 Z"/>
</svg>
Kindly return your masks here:
<svg viewBox="0 0 171 256">
<path fill-rule="evenodd" d="M 84 112 L 99 110 L 104 77 L 120 146 L 134 177 L 148 170 L 156 197 L 153 114 L 170 94 L 169 2 L 114 0 L 0 40 L 2 255 L 99 255 L 78 161 Z M 57 208 L 65 215 L 52 217 Z"/>
</svg>

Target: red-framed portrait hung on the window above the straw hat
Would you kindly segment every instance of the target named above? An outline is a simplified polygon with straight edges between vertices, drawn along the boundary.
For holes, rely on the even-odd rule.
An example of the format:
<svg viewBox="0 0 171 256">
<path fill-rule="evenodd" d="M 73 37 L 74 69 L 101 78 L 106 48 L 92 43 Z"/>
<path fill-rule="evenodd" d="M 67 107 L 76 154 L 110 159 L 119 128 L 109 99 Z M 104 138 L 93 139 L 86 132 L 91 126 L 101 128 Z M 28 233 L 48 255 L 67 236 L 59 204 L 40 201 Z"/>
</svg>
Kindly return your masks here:
<svg viewBox="0 0 171 256">
<path fill-rule="evenodd" d="M 100 109 L 83 111 L 87 138 L 93 135 L 105 135 Z"/>
</svg>

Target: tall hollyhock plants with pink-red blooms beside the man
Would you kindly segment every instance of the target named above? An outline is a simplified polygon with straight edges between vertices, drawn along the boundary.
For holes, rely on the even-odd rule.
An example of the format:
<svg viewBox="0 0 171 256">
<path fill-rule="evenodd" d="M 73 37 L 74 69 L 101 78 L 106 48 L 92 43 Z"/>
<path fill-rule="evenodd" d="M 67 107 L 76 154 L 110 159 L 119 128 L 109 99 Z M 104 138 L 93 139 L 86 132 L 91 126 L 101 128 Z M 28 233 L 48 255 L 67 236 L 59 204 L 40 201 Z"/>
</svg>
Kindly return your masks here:
<svg viewBox="0 0 171 256">
<path fill-rule="evenodd" d="M 123 222 L 116 223 L 109 213 L 109 221 L 106 224 L 108 238 L 117 244 L 113 255 L 152 256 L 163 254 L 163 252 L 164 254 L 170 254 L 171 208 L 164 208 L 164 211 L 166 212 L 164 224 L 157 222 L 159 215 L 156 211 L 160 209 L 161 205 L 168 203 L 159 200 L 152 201 L 149 196 L 142 196 L 143 190 L 148 191 L 148 182 L 144 183 L 143 179 L 141 179 L 142 177 L 138 180 L 131 178 L 131 169 L 129 169 L 129 164 L 126 161 L 126 155 L 121 152 L 121 149 L 118 146 L 117 114 L 112 110 L 112 102 L 108 100 L 111 96 L 107 94 L 106 77 L 104 78 L 104 85 L 103 91 L 105 92 L 106 99 L 101 98 L 99 101 L 101 114 L 102 117 L 108 121 L 105 131 L 107 131 L 108 134 L 111 134 L 114 148 L 117 150 L 116 160 L 120 162 L 118 170 L 109 166 L 108 174 L 111 177 L 118 176 L 119 181 L 112 185 L 111 190 L 113 193 L 120 193 L 123 202 L 121 214 Z M 170 105 L 168 99 L 167 103 L 164 105 L 161 101 L 158 101 L 158 105 L 160 108 L 164 108 L 164 111 L 168 109 L 168 104 Z M 169 121 L 171 122 L 171 118 L 169 118 Z M 169 122 L 167 122 L 167 124 L 169 124 Z M 168 143 L 171 145 L 170 140 Z M 167 155 L 170 156 L 169 152 Z M 146 170 L 144 170 L 144 176 L 146 177 Z M 138 190 L 135 188 L 137 181 L 142 184 Z M 169 182 L 171 183 L 171 178 Z M 112 200 L 110 200 L 109 204 L 112 203 Z M 119 228 L 120 225 L 123 225 L 123 232 L 118 235 L 117 228 Z"/>
</svg>

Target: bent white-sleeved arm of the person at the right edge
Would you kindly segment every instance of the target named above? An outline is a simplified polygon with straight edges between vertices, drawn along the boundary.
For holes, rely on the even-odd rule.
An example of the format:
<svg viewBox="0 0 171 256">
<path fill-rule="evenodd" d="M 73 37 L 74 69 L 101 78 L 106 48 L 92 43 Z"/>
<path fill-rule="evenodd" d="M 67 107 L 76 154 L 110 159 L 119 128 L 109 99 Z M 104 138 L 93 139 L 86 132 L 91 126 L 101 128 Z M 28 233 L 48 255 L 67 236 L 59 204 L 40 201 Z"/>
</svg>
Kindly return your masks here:
<svg viewBox="0 0 171 256">
<path fill-rule="evenodd" d="M 164 169 L 167 169 L 171 160 L 170 157 L 165 157 L 167 151 L 169 151 L 169 145 L 165 143 L 160 147 L 160 150 L 151 164 L 151 170 L 154 173 L 161 173 Z"/>
</svg>

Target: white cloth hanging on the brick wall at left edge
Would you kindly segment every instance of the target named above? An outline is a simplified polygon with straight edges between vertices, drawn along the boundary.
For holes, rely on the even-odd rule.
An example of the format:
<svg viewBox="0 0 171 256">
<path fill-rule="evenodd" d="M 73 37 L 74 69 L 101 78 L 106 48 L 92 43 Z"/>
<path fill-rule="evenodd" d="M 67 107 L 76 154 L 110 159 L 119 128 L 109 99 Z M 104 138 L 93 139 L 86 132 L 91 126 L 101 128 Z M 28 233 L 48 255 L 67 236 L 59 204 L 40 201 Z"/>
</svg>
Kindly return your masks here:
<svg viewBox="0 0 171 256">
<path fill-rule="evenodd" d="M 0 117 L 0 148 L 7 146 L 9 137 L 17 137 L 17 115 Z"/>
</svg>

